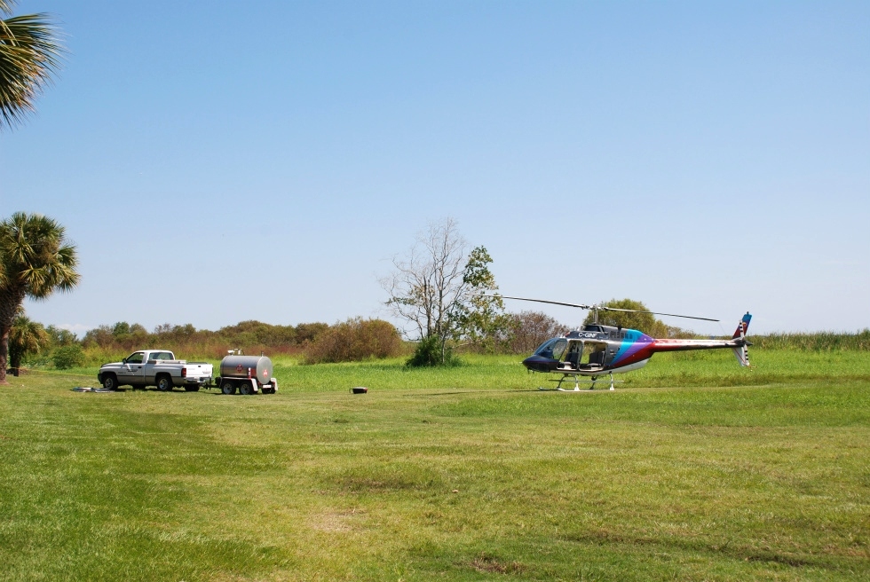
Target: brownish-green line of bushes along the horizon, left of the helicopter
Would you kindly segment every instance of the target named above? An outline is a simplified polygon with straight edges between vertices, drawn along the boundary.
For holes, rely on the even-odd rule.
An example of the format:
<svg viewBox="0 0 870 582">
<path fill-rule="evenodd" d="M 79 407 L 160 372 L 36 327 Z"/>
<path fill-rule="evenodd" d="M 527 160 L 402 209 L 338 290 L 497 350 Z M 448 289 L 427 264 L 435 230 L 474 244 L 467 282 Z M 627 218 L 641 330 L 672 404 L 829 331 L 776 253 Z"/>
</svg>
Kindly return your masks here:
<svg viewBox="0 0 870 582">
<path fill-rule="evenodd" d="M 505 314 L 505 333 L 491 344 L 463 343 L 467 351 L 527 354 L 540 343 L 568 327 L 536 311 Z M 148 331 L 138 323 L 119 321 L 95 327 L 78 339 L 67 329 L 44 326 L 23 311 L 15 318 L 9 336 L 12 374 L 21 366 L 53 366 L 64 370 L 96 366 L 123 358 L 134 350 L 165 348 L 181 358 L 219 359 L 226 350 L 298 356 L 307 364 L 395 358 L 418 346 L 402 339 L 399 330 L 384 319 L 352 318 L 328 326 L 302 323 L 280 326 L 261 321 L 241 321 L 217 331 L 196 329 L 192 324 L 162 324 Z"/>
</svg>

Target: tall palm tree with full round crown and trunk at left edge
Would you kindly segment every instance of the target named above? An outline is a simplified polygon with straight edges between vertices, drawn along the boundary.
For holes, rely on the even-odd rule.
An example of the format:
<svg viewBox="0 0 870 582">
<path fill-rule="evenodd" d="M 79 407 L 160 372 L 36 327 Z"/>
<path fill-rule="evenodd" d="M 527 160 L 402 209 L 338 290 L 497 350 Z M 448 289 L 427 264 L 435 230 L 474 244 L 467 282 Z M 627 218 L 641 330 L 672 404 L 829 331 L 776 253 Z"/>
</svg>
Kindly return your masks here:
<svg viewBox="0 0 870 582">
<path fill-rule="evenodd" d="M 78 284 L 78 259 L 65 232 L 40 214 L 16 212 L 0 222 L 0 384 L 6 383 L 9 333 L 24 298 L 44 299 Z"/>
</svg>

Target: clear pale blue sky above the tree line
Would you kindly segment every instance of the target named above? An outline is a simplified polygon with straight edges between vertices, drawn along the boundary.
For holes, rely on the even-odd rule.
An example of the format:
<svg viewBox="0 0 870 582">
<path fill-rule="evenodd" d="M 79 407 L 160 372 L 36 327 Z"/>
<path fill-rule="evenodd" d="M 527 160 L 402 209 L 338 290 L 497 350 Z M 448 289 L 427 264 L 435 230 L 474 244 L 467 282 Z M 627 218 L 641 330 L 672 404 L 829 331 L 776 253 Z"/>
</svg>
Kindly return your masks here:
<svg viewBox="0 0 870 582">
<path fill-rule="evenodd" d="M 506 295 L 870 326 L 866 1 L 28 12 L 69 55 L 0 133 L 0 215 L 59 220 L 82 273 L 44 324 L 385 317 L 392 256 L 453 216 Z"/>
</svg>

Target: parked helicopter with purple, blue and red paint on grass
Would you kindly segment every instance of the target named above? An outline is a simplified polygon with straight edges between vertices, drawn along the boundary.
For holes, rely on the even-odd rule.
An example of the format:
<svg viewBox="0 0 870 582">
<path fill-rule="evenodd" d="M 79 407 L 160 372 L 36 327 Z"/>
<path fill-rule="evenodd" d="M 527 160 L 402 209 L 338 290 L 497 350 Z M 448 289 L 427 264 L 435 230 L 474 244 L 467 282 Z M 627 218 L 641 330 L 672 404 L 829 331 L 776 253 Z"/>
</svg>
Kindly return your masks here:
<svg viewBox="0 0 870 582">
<path fill-rule="evenodd" d="M 730 348 L 733 350 L 734 356 L 737 358 L 740 366 L 749 366 L 747 346 L 752 345 L 752 343 L 747 341 L 746 334 L 752 315 L 748 311 L 738 322 L 737 330 L 730 340 L 656 339 L 637 331 L 637 329 L 599 324 L 598 311 L 630 311 L 675 318 L 702 319 L 705 321 L 719 320 L 697 318 L 690 315 L 677 315 L 676 313 L 618 309 L 602 305 L 562 303 L 542 299 L 528 299 L 526 297 L 510 297 L 507 295 L 486 296 L 564 305 L 592 312 L 591 323 L 586 324 L 582 329 L 573 330 L 561 337 L 554 337 L 543 342 L 534 350 L 531 356 L 523 360 L 523 366 L 526 366 L 529 372 L 562 374 L 555 388 L 559 391 L 579 391 L 580 376 L 589 377 L 590 380 L 583 380 L 591 382 L 589 389 L 595 389 L 599 377 L 609 376 L 610 389 L 613 390 L 613 374 L 639 370 L 646 366 L 650 358 L 653 358 L 653 354 L 660 351 L 721 350 Z M 574 381 L 573 390 L 562 388 L 562 382 L 569 378 L 572 378 Z"/>
</svg>

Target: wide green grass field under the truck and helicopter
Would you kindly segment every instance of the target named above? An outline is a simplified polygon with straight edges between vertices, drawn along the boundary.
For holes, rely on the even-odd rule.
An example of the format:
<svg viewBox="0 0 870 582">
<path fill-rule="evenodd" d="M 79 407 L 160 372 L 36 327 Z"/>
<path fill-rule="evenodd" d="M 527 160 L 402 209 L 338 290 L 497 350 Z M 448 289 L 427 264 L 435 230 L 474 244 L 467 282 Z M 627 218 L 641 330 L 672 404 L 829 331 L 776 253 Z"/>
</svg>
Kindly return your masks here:
<svg viewBox="0 0 870 582">
<path fill-rule="evenodd" d="M 752 356 L 577 394 L 502 357 L 278 361 L 255 397 L 12 378 L 0 579 L 870 578 L 866 353 Z"/>
</svg>

